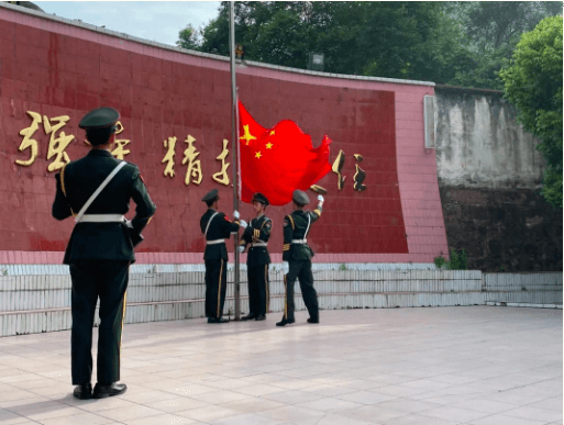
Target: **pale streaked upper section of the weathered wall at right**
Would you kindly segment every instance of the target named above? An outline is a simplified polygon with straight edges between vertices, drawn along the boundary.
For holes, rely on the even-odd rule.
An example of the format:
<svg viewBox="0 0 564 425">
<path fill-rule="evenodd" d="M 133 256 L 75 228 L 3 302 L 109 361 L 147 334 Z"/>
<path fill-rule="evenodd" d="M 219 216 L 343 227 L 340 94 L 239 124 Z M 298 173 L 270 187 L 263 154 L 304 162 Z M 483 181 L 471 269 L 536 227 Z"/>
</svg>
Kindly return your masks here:
<svg viewBox="0 0 564 425">
<path fill-rule="evenodd" d="M 539 141 L 499 91 L 435 88 L 436 166 L 443 186 L 538 189 Z"/>
</svg>

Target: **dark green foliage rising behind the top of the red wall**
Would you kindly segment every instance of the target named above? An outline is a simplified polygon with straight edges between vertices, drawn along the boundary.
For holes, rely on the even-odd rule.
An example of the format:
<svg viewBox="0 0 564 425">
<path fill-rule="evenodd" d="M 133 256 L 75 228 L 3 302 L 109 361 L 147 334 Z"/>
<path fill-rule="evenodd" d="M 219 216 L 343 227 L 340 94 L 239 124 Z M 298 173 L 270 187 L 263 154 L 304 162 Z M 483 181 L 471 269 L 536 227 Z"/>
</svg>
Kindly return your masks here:
<svg viewBox="0 0 564 425">
<path fill-rule="evenodd" d="M 550 1 L 237 1 L 235 41 L 245 59 L 307 68 L 324 55 L 323 71 L 502 89 L 497 72 L 519 36 L 562 13 Z M 229 2 L 177 45 L 229 55 Z"/>
</svg>

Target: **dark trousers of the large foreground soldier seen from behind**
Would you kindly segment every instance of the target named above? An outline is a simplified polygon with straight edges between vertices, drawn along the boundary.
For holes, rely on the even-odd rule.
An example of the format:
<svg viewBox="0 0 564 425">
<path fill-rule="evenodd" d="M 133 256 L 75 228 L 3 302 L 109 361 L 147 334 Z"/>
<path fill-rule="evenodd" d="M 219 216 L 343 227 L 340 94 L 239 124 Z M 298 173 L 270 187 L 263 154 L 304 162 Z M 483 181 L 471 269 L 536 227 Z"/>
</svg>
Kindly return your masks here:
<svg viewBox="0 0 564 425">
<path fill-rule="evenodd" d="M 70 264 L 70 369 L 74 385 L 89 383 L 92 377 L 92 327 L 98 299 L 98 382 L 110 384 L 120 380 L 121 335 L 129 268 L 130 261 L 120 260 L 76 260 Z"/>
</svg>

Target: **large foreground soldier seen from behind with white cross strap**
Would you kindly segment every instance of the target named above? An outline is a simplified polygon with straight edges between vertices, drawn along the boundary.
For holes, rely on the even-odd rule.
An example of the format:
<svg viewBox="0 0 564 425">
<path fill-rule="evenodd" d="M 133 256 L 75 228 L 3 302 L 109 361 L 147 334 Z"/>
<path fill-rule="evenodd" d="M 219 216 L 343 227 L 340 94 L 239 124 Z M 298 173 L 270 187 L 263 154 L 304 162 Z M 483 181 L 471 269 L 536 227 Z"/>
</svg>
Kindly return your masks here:
<svg viewBox="0 0 564 425">
<path fill-rule="evenodd" d="M 112 108 L 87 113 L 79 127 L 86 130 L 90 152 L 55 176 L 53 216 L 65 220 L 74 215 L 76 222 L 64 264 L 70 266 L 73 281 L 71 376 L 73 384 L 77 385 L 74 395 L 82 400 L 118 395 L 126 390 L 124 383 L 117 382 L 129 268 L 135 261 L 133 247 L 143 239 L 141 232 L 156 209 L 137 166 L 118 160 L 110 153 L 119 118 Z M 102 182 L 107 186 L 97 194 Z M 126 222 L 123 214 L 129 211 L 131 199 L 136 203 L 135 216 Z M 92 393 L 92 326 L 98 299 L 98 382 Z"/>
</svg>

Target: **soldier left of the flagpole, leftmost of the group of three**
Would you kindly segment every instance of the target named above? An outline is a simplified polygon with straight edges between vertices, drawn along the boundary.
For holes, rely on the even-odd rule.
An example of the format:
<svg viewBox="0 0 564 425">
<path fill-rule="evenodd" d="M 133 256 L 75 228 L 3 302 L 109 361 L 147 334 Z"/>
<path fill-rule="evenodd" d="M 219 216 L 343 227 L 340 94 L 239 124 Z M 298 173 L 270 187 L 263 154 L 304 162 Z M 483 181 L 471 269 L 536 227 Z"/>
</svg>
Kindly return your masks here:
<svg viewBox="0 0 564 425">
<path fill-rule="evenodd" d="M 239 221 L 239 212 L 233 215 L 235 221 L 229 220 L 225 214 L 218 211 L 220 197 L 218 189 L 210 190 L 201 199 L 208 205 L 208 211 L 200 219 L 200 228 L 206 238 L 206 316 L 208 323 L 228 323 L 223 315 L 225 289 L 228 283 L 228 248 L 225 239 L 240 227 L 245 228 L 246 222 Z"/>
</svg>

